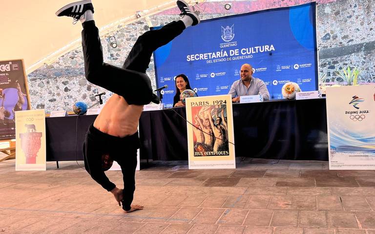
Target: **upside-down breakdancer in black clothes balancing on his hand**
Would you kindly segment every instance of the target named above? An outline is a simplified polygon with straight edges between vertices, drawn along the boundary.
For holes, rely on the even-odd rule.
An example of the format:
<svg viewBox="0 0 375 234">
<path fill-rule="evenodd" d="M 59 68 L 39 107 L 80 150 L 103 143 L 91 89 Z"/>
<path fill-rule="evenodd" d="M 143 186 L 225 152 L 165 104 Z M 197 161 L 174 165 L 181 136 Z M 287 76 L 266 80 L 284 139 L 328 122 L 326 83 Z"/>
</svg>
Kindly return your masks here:
<svg viewBox="0 0 375 234">
<path fill-rule="evenodd" d="M 154 50 L 180 35 L 185 28 L 200 22 L 187 3 L 177 0 L 181 20 L 173 21 L 159 30 L 147 31 L 138 38 L 123 67 L 103 61 L 102 45 L 98 28 L 93 20 L 94 8 L 91 0 L 70 3 L 56 12 L 57 16 L 72 17 L 81 21 L 82 47 L 86 79 L 114 94 L 105 103 L 102 111 L 87 131 L 83 144 L 84 167 L 91 177 L 105 190 L 115 196 L 126 213 L 142 210 L 143 206 L 131 205 L 135 190 L 137 166 L 138 121 L 143 105 L 155 102 L 151 82 L 146 75 Z M 104 170 L 116 161 L 122 170 L 124 190 L 118 189 L 105 175 Z"/>
</svg>

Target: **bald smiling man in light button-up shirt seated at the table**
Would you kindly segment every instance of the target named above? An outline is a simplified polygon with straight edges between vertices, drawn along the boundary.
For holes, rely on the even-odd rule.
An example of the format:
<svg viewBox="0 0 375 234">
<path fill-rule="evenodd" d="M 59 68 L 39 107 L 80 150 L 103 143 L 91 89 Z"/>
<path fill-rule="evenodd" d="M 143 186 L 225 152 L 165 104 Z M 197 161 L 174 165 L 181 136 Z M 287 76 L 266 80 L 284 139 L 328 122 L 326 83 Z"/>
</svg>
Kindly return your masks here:
<svg viewBox="0 0 375 234">
<path fill-rule="evenodd" d="M 257 95 L 259 93 L 263 95 L 263 100 L 270 99 L 267 85 L 261 79 L 252 77 L 252 73 L 250 64 L 241 66 L 241 79 L 233 82 L 228 93 L 232 95 L 233 102 L 239 102 L 240 96 Z"/>
</svg>

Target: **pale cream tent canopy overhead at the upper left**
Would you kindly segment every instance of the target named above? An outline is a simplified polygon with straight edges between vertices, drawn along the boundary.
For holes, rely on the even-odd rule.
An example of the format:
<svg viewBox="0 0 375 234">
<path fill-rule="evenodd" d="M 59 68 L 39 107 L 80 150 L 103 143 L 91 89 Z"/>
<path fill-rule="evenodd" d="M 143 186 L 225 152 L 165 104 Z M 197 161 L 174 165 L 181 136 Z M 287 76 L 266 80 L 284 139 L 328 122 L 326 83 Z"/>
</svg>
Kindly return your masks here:
<svg viewBox="0 0 375 234">
<path fill-rule="evenodd" d="M 55 12 L 72 0 L 1 1 L 0 60 L 24 59 L 26 73 L 80 42 L 82 27 Z M 107 31 L 135 20 L 137 11 L 152 15 L 175 6 L 175 0 L 93 0 L 98 28 Z M 102 31 L 101 31 L 102 32 Z M 102 32 L 103 33 L 103 32 Z"/>
</svg>

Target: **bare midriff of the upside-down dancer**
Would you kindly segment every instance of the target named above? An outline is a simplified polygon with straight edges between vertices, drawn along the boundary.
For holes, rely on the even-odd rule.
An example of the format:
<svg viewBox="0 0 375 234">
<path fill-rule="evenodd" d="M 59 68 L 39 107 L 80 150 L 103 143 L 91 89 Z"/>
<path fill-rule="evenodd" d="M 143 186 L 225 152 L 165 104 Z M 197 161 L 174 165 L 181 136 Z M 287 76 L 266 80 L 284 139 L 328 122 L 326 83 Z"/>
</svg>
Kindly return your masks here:
<svg viewBox="0 0 375 234">
<path fill-rule="evenodd" d="M 113 94 L 96 118 L 94 127 L 106 134 L 125 137 L 138 130 L 143 106 L 129 105 L 124 97 Z"/>
</svg>

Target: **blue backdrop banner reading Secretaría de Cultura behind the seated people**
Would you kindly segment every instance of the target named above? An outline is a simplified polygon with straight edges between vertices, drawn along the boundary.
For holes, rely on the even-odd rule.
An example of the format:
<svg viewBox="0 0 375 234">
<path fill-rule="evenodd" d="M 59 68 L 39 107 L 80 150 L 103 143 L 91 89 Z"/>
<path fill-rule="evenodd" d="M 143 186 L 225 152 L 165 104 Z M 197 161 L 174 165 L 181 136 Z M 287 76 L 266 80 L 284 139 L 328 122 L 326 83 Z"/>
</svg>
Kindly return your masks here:
<svg viewBox="0 0 375 234">
<path fill-rule="evenodd" d="M 228 94 L 246 63 L 271 99 L 283 99 L 288 82 L 317 90 L 315 2 L 201 21 L 157 49 L 154 60 L 157 86 L 168 85 L 166 107 L 173 104 L 176 75 L 187 75 L 200 97 Z"/>
</svg>

